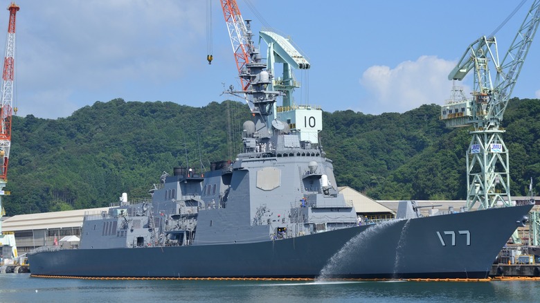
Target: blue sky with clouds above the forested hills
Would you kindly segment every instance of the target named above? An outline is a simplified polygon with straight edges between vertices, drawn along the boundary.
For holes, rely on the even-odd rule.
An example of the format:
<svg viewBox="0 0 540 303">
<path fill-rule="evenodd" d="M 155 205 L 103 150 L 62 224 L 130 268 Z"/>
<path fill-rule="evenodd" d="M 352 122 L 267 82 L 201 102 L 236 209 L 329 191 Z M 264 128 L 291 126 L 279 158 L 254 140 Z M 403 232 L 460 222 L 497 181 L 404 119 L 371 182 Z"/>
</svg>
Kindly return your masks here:
<svg viewBox="0 0 540 303">
<path fill-rule="evenodd" d="M 520 1 L 237 0 L 253 32 L 284 33 L 309 57 L 297 104 L 379 114 L 444 104 L 449 71 Z M 499 30 L 504 55 L 532 1 Z M 10 1 L 0 0 L 7 8 Z M 15 106 L 19 116 L 70 116 L 96 101 L 222 102 L 240 87 L 221 6 L 214 0 L 213 64 L 206 62 L 206 0 L 19 0 Z M 3 12 L 2 12 L 3 11 Z M 264 20 L 258 19 L 260 15 Z M 0 10 L 5 47 L 8 11 Z M 2 31 L 3 29 L 3 31 Z M 536 36 L 540 39 L 540 35 Z M 258 37 L 255 39 L 258 42 Z M 264 42 L 262 49 L 265 50 Z M 539 98 L 540 42 L 512 94 Z M 470 91 L 471 75 L 461 86 Z"/>
</svg>

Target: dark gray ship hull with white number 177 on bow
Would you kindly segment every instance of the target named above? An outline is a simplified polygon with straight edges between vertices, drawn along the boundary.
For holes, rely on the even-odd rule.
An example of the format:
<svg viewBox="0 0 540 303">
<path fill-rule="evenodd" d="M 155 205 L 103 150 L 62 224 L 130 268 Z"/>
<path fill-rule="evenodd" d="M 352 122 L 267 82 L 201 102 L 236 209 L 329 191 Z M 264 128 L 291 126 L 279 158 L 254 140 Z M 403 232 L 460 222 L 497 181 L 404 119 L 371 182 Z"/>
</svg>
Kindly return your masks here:
<svg viewBox="0 0 540 303">
<path fill-rule="evenodd" d="M 357 226 L 251 244 L 34 252 L 66 277 L 485 278 L 532 205 Z"/>
</svg>

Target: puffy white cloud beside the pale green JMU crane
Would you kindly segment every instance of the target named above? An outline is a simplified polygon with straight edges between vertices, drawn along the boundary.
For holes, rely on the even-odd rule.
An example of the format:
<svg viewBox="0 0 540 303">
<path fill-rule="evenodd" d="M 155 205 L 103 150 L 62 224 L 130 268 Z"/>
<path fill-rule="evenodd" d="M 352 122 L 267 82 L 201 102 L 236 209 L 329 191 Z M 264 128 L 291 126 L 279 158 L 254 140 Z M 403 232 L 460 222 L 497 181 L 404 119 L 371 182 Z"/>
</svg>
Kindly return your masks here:
<svg viewBox="0 0 540 303">
<path fill-rule="evenodd" d="M 403 113 L 422 104 L 444 104 L 452 86 L 448 73 L 454 66 L 456 62 L 426 55 L 395 68 L 371 66 L 360 79 L 369 96 L 359 104 L 359 111 Z"/>
</svg>

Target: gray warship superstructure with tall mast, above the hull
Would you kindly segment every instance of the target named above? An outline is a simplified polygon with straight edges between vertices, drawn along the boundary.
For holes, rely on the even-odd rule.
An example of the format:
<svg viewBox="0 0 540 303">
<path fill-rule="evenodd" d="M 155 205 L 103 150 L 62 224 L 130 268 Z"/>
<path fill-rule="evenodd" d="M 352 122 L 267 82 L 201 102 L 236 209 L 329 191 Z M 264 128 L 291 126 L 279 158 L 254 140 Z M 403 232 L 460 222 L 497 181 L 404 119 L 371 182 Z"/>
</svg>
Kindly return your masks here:
<svg viewBox="0 0 540 303">
<path fill-rule="evenodd" d="M 273 118 L 279 92 L 267 90 L 271 74 L 248 42 L 249 73 L 242 77 L 250 86 L 242 93 L 253 96 L 253 120 L 244 122 L 243 152 L 233 163 L 213 163 L 210 172 L 179 167 L 163 174 L 152 201 L 124 196 L 108 214 L 87 216 L 80 248 L 251 243 L 357 225 L 352 201 L 337 190 L 332 160 Z"/>
</svg>

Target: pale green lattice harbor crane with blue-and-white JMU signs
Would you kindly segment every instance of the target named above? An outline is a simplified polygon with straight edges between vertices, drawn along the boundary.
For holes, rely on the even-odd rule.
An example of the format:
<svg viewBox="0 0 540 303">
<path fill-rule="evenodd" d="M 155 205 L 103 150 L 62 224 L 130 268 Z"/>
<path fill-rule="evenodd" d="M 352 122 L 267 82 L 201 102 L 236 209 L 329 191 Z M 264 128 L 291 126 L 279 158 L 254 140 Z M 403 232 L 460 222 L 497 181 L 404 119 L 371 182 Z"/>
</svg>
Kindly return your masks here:
<svg viewBox="0 0 540 303">
<path fill-rule="evenodd" d="M 469 71 L 474 74 L 472 98 L 462 95 L 441 108 L 441 119 L 447 127 L 474 127 L 467 149 L 468 209 L 475 205 L 485 209 L 512 203 L 508 149 L 503 141 L 505 130 L 501 121 L 539 21 L 540 1 L 535 0 L 502 61 L 494 35 L 483 36 L 467 47 L 448 76 L 449 80 L 461 81 Z M 490 71 L 496 72 L 495 77 Z M 454 86 L 453 91 L 457 95 L 459 90 Z"/>
</svg>

